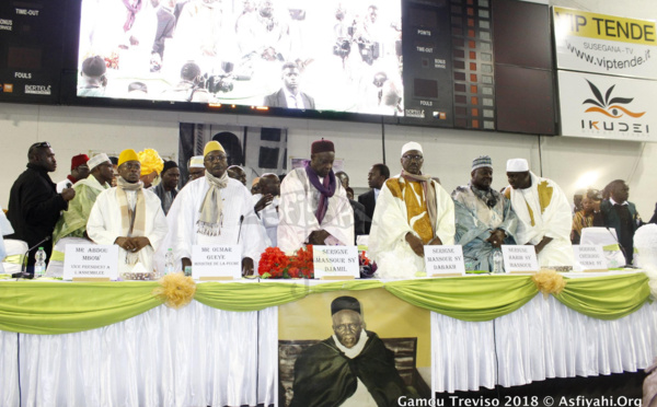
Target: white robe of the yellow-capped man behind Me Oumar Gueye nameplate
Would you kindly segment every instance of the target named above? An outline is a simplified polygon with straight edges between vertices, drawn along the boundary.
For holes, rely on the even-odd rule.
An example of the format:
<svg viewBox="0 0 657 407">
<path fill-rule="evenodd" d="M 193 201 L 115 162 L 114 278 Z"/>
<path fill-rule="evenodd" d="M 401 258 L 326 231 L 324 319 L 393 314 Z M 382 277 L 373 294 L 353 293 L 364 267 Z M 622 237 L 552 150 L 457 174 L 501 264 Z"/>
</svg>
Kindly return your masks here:
<svg viewBox="0 0 657 407">
<path fill-rule="evenodd" d="M 264 230 L 253 211 L 251 193 L 239 181 L 228 178 L 228 185 L 220 190 L 223 200 L 220 232 L 208 236 L 198 233 L 196 223 L 209 188 L 206 177 L 195 179 L 181 189 L 171 205 L 166 221 L 176 265 L 184 257 L 192 259 L 194 245 L 238 245 L 242 258 L 251 257 L 256 265 L 266 245 Z"/>
</svg>

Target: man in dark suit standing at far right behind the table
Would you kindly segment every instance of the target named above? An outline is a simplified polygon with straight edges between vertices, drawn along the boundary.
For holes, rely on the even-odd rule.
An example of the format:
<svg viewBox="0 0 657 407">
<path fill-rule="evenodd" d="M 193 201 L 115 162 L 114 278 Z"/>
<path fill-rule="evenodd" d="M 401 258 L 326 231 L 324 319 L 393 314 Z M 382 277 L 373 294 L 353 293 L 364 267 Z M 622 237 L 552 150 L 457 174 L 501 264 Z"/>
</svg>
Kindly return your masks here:
<svg viewBox="0 0 657 407">
<path fill-rule="evenodd" d="M 634 203 L 627 200 L 630 187 L 623 179 L 612 181 L 606 189 L 611 196 L 609 200 L 600 203 L 604 226 L 615 229 L 619 244 L 625 255 L 625 263 L 631 265 L 634 257 L 634 232 L 643 222 Z"/>
</svg>

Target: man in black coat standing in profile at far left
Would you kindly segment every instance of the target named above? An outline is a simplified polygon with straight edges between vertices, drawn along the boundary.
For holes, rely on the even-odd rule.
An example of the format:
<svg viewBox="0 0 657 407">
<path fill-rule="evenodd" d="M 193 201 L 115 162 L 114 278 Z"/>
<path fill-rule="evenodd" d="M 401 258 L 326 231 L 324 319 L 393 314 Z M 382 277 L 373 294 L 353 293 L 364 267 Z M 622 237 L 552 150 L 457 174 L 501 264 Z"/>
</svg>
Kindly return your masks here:
<svg viewBox="0 0 657 407">
<path fill-rule="evenodd" d="M 65 188 L 61 194 L 57 194 L 48 175 L 57 168 L 57 160 L 48 142 L 32 144 L 27 151 L 27 170 L 11 187 L 7 214 L 15 233 L 7 237 L 24 241 L 32 247 L 53 235 L 59 213 L 68 208 L 68 201 L 73 199 L 76 191 Z M 49 259 L 53 242 L 44 242 L 41 246 Z M 34 253 L 37 248 L 30 252 L 28 266 L 34 266 Z"/>
</svg>

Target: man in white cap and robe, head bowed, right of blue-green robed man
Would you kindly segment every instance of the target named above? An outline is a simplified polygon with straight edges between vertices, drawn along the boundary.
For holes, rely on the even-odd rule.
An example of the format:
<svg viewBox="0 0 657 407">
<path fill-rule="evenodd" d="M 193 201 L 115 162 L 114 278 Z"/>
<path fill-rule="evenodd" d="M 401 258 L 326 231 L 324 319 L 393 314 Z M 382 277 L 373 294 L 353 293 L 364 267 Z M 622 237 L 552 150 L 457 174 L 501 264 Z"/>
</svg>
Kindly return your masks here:
<svg viewBox="0 0 657 407">
<path fill-rule="evenodd" d="M 573 266 L 573 217 L 566 195 L 552 179 L 529 171 L 525 159 L 507 162 L 507 177 L 510 188 L 505 196 L 518 217 L 516 242 L 534 245 L 541 267 Z"/>
</svg>

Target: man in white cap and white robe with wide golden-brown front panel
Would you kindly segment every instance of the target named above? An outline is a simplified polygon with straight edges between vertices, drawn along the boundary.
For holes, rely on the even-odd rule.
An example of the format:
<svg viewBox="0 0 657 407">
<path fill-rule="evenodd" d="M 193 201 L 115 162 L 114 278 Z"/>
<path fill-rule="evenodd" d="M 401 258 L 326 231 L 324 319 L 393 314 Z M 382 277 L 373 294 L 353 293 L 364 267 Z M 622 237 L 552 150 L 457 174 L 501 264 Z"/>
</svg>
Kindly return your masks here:
<svg viewBox="0 0 657 407">
<path fill-rule="evenodd" d="M 425 245 L 454 244 L 454 203 L 436 179 L 422 173 L 422 146 L 402 147 L 402 174 L 388 178 L 369 235 L 380 278 L 410 278 L 425 270 Z"/>
</svg>

